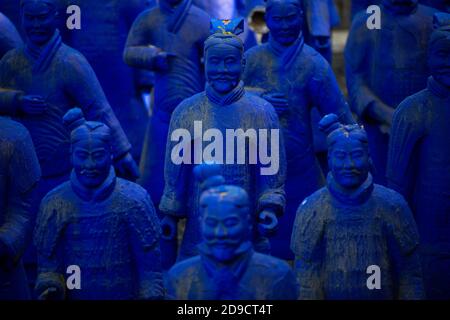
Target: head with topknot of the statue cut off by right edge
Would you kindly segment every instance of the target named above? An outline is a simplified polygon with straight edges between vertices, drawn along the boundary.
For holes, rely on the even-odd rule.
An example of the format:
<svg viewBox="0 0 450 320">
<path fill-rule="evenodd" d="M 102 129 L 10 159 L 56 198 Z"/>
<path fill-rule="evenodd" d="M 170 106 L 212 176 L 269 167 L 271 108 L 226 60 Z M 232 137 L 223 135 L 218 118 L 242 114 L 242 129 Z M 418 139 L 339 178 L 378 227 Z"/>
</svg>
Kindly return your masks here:
<svg viewBox="0 0 450 320">
<path fill-rule="evenodd" d="M 434 22 L 435 29 L 428 47 L 428 65 L 433 78 L 450 87 L 450 14 L 435 14 Z"/>
</svg>

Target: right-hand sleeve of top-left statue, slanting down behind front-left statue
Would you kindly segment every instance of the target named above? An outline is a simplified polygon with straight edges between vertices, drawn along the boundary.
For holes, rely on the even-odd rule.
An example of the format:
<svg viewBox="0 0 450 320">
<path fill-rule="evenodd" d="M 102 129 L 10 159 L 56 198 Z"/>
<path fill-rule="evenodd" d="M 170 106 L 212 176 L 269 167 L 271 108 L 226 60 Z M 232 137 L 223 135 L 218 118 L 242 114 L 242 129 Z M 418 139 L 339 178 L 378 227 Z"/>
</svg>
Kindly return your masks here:
<svg viewBox="0 0 450 320">
<path fill-rule="evenodd" d="M 68 95 L 76 106 L 83 109 L 87 120 L 103 122 L 111 129 L 114 156 L 119 159 L 131 150 L 131 145 L 106 99 L 94 70 L 81 55 L 73 55 L 68 64 L 70 65 L 66 79 Z"/>
</svg>

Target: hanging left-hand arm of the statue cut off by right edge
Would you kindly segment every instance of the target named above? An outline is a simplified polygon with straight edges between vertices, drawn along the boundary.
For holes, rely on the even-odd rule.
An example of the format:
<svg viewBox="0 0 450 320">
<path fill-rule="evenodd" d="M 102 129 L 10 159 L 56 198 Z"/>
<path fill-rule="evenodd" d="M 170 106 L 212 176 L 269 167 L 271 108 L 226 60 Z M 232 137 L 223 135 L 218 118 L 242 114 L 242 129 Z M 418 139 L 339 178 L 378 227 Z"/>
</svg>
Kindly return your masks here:
<svg viewBox="0 0 450 320">
<path fill-rule="evenodd" d="M 413 106 L 408 101 L 411 100 L 401 103 L 394 114 L 386 175 L 389 187 L 409 201 L 417 172 L 416 153 L 418 142 L 423 135 L 423 116 L 412 110 Z"/>
</svg>

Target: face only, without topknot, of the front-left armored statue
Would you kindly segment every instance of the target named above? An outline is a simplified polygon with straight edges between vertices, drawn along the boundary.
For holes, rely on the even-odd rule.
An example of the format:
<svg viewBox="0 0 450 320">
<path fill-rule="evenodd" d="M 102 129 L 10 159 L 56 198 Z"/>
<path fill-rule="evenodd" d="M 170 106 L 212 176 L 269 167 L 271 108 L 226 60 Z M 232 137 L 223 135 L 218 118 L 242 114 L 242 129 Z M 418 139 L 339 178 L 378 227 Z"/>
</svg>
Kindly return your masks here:
<svg viewBox="0 0 450 320">
<path fill-rule="evenodd" d="M 73 145 L 72 165 L 78 181 L 87 188 L 96 188 L 105 181 L 111 162 L 111 150 L 100 138 L 90 136 Z"/>
</svg>

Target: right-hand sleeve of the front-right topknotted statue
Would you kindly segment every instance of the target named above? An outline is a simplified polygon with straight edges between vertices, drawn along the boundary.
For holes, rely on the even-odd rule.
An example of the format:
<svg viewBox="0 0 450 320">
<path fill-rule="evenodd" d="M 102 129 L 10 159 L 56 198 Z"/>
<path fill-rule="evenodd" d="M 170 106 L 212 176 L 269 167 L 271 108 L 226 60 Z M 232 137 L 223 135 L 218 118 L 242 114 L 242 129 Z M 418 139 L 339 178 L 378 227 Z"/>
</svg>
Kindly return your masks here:
<svg viewBox="0 0 450 320">
<path fill-rule="evenodd" d="M 419 233 L 411 210 L 400 196 L 395 212 L 386 215 L 389 255 L 393 261 L 398 299 L 425 297 L 422 269 L 418 252 Z"/>
</svg>

